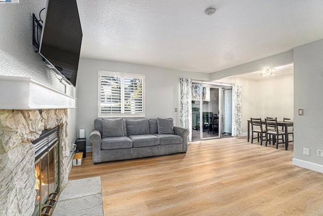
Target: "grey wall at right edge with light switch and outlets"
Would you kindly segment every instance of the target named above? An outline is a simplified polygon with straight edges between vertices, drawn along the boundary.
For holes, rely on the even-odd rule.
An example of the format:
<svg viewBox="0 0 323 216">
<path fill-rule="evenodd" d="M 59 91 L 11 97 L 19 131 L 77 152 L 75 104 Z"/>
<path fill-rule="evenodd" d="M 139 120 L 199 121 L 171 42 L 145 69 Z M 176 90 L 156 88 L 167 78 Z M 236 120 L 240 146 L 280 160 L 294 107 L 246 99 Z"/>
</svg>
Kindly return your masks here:
<svg viewBox="0 0 323 216">
<path fill-rule="evenodd" d="M 323 39 L 294 49 L 294 160 L 301 166 L 323 172 L 323 157 L 316 150 L 323 149 Z M 297 115 L 304 109 L 304 115 Z M 310 155 L 303 154 L 303 148 Z M 314 163 L 314 164 L 311 164 Z M 299 164 L 298 164 L 299 165 Z"/>
</svg>

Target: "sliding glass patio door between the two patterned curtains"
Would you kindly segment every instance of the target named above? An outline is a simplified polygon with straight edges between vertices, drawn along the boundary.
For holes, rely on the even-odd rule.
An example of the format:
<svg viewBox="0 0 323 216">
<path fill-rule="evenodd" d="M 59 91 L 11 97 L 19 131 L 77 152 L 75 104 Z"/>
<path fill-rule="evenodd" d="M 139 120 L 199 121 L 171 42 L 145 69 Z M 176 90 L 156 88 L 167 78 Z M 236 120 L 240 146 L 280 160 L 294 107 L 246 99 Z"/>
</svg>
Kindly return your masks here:
<svg viewBox="0 0 323 216">
<path fill-rule="evenodd" d="M 192 141 L 202 139 L 214 139 L 221 138 L 224 129 L 226 135 L 230 133 L 231 126 L 229 124 L 230 118 L 232 121 L 232 101 L 231 104 L 227 102 L 229 97 L 226 95 L 226 106 L 223 107 L 223 87 L 221 85 L 212 84 L 192 84 Z M 232 95 L 231 95 L 232 100 Z M 231 117 L 226 112 L 226 118 L 222 111 L 229 110 L 231 106 Z M 223 126 L 223 122 L 226 122 L 226 128 Z"/>
</svg>

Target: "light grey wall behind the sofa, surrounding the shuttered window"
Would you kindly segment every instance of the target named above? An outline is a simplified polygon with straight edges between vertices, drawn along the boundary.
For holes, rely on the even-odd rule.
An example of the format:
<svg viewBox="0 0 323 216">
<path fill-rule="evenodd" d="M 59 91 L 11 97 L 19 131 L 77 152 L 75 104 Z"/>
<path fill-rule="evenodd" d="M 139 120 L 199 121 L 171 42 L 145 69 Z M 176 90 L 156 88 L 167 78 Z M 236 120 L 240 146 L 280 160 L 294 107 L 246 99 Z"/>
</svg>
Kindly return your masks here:
<svg viewBox="0 0 323 216">
<path fill-rule="evenodd" d="M 98 70 L 144 74 L 145 117 L 172 117 L 177 126 L 180 123 L 180 78 L 209 79 L 207 73 L 81 58 L 76 85 L 77 129 L 85 129 L 87 146 L 90 146 L 88 138 L 94 128 L 93 121 L 97 118 Z M 178 108 L 178 112 L 175 112 L 175 108 Z M 91 151 L 91 148 L 87 150 Z"/>
</svg>

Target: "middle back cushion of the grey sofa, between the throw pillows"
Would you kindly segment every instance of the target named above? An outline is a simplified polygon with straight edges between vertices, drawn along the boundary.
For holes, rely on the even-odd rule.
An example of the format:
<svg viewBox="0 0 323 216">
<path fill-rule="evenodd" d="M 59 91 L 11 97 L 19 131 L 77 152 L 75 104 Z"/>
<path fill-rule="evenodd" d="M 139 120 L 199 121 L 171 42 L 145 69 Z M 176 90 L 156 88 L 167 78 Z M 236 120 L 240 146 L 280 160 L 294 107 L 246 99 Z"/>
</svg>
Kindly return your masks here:
<svg viewBox="0 0 323 216">
<path fill-rule="evenodd" d="M 150 134 L 147 118 L 126 119 L 127 136 Z"/>
</svg>

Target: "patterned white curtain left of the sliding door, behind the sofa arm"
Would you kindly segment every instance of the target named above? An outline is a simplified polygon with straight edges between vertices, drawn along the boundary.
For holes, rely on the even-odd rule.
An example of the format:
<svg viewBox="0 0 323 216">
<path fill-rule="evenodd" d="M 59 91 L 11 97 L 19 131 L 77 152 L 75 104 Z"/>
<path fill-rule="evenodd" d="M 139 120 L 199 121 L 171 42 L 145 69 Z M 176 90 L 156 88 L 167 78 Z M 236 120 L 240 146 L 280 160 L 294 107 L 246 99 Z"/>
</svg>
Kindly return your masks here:
<svg viewBox="0 0 323 216">
<path fill-rule="evenodd" d="M 192 79 L 181 78 L 181 119 L 180 127 L 189 130 L 187 142 L 192 141 Z"/>
</svg>

